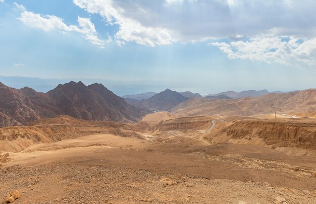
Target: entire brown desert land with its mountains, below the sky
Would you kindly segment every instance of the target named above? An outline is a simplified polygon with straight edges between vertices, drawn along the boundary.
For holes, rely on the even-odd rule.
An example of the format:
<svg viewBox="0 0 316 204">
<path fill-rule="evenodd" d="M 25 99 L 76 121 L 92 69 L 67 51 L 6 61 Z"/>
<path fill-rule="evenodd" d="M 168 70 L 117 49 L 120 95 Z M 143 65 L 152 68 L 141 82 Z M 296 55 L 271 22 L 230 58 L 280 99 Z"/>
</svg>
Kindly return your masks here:
<svg viewBox="0 0 316 204">
<path fill-rule="evenodd" d="M 17 203 L 315 203 L 315 89 L 0 94 L 3 201 L 18 190 Z"/>
</svg>

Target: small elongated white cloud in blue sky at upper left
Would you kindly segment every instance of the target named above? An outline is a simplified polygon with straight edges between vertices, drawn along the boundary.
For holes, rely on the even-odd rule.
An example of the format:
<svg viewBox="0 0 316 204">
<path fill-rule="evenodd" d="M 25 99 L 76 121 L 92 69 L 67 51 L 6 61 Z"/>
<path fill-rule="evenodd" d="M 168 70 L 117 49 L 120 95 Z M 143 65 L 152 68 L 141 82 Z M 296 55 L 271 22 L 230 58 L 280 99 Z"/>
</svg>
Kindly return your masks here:
<svg viewBox="0 0 316 204">
<path fill-rule="evenodd" d="M 61 32 L 78 32 L 84 35 L 84 38 L 90 41 L 94 45 L 99 45 L 103 47 L 107 41 L 100 40 L 97 37 L 97 32 L 95 27 L 90 19 L 88 18 L 81 18 L 78 16 L 78 24 L 79 26 L 75 25 L 66 25 L 63 22 L 63 19 L 52 16 L 52 15 L 45 15 L 40 16 L 39 14 L 34 14 L 32 12 L 24 11 L 21 13 L 21 17 L 18 18 L 22 21 L 25 25 L 33 28 L 39 28 L 44 31 L 51 31 L 51 30 L 58 30 Z"/>
</svg>

